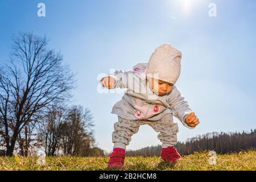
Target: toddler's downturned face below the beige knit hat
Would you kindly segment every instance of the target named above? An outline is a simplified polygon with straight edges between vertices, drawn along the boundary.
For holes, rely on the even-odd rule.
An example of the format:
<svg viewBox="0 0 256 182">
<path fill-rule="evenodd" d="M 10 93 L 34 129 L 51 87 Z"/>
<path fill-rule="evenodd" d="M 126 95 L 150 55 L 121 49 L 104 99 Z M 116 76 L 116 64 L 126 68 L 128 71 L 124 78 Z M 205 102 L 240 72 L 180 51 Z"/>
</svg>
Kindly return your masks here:
<svg viewBox="0 0 256 182">
<path fill-rule="evenodd" d="M 159 96 L 164 96 L 172 91 L 173 84 L 170 84 L 169 82 L 150 77 L 147 77 L 147 79 L 152 92 L 155 92 Z"/>
</svg>

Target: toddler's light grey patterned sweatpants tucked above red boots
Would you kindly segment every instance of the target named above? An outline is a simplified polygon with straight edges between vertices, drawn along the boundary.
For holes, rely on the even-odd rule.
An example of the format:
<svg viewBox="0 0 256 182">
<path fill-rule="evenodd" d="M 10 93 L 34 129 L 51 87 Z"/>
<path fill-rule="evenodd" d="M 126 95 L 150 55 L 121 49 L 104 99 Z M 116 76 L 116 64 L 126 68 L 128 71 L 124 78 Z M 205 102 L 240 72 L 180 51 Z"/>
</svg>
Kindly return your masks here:
<svg viewBox="0 0 256 182">
<path fill-rule="evenodd" d="M 114 148 L 124 148 L 128 146 L 133 134 L 139 131 L 141 125 L 149 125 L 156 132 L 157 138 L 162 142 L 162 148 L 174 146 L 177 143 L 178 125 L 173 122 L 172 114 L 166 114 L 159 121 L 129 120 L 118 117 L 112 133 Z"/>
</svg>

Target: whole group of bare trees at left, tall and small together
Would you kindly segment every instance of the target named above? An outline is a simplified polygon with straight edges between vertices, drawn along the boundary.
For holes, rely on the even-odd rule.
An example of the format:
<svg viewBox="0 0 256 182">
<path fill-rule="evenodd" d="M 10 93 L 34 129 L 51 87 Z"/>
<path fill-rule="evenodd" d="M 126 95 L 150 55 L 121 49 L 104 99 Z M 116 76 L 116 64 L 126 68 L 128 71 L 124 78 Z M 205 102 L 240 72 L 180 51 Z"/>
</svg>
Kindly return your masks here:
<svg viewBox="0 0 256 182">
<path fill-rule="evenodd" d="M 90 109 L 69 105 L 74 74 L 48 40 L 32 33 L 13 36 L 10 60 L 0 65 L 0 149 L 27 156 L 101 155 Z"/>
</svg>

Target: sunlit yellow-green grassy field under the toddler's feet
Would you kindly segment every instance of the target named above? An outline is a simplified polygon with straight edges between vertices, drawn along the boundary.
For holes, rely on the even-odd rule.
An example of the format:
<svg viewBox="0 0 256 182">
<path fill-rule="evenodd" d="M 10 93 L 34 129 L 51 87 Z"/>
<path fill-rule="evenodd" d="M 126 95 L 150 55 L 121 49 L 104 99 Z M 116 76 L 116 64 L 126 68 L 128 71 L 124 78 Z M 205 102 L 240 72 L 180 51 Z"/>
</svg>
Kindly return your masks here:
<svg viewBox="0 0 256 182">
<path fill-rule="evenodd" d="M 217 164 L 208 163 L 208 152 L 183 156 L 175 165 L 154 157 L 127 157 L 121 170 L 256 170 L 256 151 L 218 155 Z M 20 156 L 0 157 L 0 170 L 106 170 L 108 157 L 47 157 L 46 164 L 39 165 L 38 158 Z"/>
</svg>

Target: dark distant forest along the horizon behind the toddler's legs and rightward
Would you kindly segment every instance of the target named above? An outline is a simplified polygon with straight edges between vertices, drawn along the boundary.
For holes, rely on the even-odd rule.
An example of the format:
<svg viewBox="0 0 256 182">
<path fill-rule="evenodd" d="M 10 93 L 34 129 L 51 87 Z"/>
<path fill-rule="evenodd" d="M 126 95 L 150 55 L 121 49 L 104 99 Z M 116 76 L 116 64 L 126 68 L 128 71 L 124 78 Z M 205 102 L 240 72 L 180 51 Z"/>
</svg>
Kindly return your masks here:
<svg viewBox="0 0 256 182">
<path fill-rule="evenodd" d="M 186 142 L 178 142 L 175 146 L 181 155 L 190 155 L 197 151 L 214 150 L 217 154 L 228 154 L 256 149 L 256 129 L 250 133 L 207 133 L 188 139 Z M 127 156 L 159 156 L 161 145 L 141 148 L 140 150 L 128 150 Z"/>
</svg>

